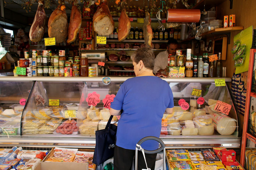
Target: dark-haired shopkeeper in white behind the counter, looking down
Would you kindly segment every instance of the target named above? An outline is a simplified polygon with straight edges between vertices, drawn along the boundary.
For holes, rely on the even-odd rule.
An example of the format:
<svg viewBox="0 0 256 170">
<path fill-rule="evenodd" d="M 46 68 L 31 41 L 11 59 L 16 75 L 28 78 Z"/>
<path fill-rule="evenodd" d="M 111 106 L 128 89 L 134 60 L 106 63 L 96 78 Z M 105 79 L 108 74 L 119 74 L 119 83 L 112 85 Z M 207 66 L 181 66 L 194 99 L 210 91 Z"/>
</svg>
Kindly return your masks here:
<svg viewBox="0 0 256 170">
<path fill-rule="evenodd" d="M 176 50 L 178 49 L 178 42 L 174 39 L 170 39 L 167 42 L 167 50 L 160 52 L 156 55 L 155 65 L 153 72 L 156 74 L 157 72 L 166 72 L 166 66 L 168 65 L 168 56 L 169 54 L 176 55 Z M 175 63 L 177 59 L 175 56 Z"/>
</svg>

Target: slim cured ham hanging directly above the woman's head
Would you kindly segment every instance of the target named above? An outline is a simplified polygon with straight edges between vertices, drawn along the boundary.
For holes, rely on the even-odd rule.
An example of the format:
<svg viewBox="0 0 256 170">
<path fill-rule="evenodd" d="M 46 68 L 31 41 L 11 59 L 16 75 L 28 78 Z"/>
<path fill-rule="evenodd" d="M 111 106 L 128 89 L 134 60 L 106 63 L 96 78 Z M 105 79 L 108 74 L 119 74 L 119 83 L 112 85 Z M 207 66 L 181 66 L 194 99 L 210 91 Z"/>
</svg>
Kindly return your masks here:
<svg viewBox="0 0 256 170">
<path fill-rule="evenodd" d="M 143 24 L 143 35 L 146 47 L 152 47 L 153 31 L 151 28 L 150 14 L 145 12 L 145 20 Z"/>
</svg>

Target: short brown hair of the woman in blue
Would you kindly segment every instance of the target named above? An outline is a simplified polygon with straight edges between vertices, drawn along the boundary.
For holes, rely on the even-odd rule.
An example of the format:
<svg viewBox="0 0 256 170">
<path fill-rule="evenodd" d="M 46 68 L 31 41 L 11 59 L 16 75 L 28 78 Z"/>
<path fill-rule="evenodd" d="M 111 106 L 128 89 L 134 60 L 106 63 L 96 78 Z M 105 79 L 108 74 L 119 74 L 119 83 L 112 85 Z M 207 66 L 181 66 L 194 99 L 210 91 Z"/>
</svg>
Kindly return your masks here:
<svg viewBox="0 0 256 170">
<path fill-rule="evenodd" d="M 138 48 L 131 56 L 132 61 L 138 64 L 140 60 L 147 69 L 153 70 L 155 65 L 155 55 L 149 48 Z"/>
</svg>

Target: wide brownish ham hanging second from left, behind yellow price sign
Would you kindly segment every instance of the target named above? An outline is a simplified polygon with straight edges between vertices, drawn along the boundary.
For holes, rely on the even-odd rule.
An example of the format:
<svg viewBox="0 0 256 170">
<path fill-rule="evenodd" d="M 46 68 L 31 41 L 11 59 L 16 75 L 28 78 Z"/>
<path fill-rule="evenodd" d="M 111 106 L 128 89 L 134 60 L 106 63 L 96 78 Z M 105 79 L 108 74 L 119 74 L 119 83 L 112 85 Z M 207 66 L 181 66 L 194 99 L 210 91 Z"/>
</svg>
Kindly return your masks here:
<svg viewBox="0 0 256 170">
<path fill-rule="evenodd" d="M 61 7 L 61 6 L 64 7 Z M 65 4 L 59 1 L 59 6 L 52 12 L 48 21 L 48 35 L 55 37 L 56 43 L 66 41 L 68 35 L 68 17 Z"/>
</svg>

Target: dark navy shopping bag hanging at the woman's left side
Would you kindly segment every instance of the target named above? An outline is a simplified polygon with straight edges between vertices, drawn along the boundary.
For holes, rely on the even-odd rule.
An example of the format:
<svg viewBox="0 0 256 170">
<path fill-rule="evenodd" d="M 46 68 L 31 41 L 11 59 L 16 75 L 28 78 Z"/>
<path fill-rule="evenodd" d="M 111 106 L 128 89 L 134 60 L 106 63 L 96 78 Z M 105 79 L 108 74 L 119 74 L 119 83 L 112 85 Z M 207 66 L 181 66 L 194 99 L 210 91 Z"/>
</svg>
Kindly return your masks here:
<svg viewBox="0 0 256 170">
<path fill-rule="evenodd" d="M 109 117 L 105 129 L 97 130 L 95 132 L 96 146 L 92 163 L 96 165 L 100 165 L 104 161 L 114 156 L 117 126 L 111 124 L 112 118 L 113 115 Z"/>
</svg>

